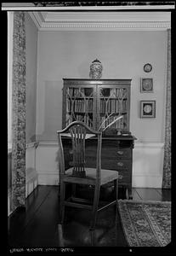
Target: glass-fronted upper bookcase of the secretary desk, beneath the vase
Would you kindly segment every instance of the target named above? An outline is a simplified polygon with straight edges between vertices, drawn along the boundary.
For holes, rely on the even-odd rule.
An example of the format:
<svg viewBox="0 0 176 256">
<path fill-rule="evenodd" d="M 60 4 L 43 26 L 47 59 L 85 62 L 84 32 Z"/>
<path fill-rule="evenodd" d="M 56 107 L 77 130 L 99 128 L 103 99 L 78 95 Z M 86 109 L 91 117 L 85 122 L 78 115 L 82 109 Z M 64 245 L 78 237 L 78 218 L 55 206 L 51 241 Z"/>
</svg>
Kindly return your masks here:
<svg viewBox="0 0 176 256">
<path fill-rule="evenodd" d="M 79 120 L 97 131 L 129 131 L 131 79 L 63 80 L 63 128 Z"/>
</svg>

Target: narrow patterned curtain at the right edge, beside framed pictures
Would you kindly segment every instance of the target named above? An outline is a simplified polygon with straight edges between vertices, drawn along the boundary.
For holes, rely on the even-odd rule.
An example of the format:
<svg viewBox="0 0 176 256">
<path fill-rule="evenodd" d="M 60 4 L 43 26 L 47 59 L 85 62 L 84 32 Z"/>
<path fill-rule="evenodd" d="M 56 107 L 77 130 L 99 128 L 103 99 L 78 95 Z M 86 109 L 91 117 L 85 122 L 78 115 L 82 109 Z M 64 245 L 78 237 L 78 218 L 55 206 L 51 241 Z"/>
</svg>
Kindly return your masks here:
<svg viewBox="0 0 176 256">
<path fill-rule="evenodd" d="M 171 189 L 171 30 L 167 30 L 167 101 L 162 188 Z"/>
</svg>

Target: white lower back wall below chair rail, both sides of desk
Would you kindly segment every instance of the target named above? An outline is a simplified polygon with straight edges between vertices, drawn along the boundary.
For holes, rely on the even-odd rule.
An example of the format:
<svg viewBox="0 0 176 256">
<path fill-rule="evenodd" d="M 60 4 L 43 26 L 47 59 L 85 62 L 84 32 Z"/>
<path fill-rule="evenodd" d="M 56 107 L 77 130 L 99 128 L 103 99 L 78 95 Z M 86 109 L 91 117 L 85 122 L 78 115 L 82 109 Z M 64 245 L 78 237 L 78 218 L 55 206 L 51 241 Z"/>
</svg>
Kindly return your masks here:
<svg viewBox="0 0 176 256">
<path fill-rule="evenodd" d="M 164 143 L 134 143 L 133 187 L 162 188 Z M 38 184 L 58 185 L 58 143 L 39 142 L 37 148 Z"/>
</svg>

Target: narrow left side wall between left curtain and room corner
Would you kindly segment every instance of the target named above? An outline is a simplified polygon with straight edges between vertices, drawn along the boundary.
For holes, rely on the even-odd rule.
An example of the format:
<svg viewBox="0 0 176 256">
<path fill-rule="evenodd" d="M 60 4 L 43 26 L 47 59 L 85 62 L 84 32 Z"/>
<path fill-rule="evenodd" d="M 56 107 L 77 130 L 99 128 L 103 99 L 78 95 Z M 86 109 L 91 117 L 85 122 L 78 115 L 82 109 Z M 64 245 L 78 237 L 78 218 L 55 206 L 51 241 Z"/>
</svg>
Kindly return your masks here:
<svg viewBox="0 0 176 256">
<path fill-rule="evenodd" d="M 26 13 L 26 197 L 37 187 L 37 27 Z"/>
</svg>

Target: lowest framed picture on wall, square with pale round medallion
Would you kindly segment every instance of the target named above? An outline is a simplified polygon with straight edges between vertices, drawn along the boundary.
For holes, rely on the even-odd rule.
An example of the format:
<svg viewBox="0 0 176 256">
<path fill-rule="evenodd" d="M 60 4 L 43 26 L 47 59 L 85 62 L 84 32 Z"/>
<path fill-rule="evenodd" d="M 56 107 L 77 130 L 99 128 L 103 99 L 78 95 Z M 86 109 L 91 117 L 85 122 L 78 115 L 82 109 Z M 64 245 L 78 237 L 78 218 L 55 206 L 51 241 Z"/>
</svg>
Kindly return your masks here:
<svg viewBox="0 0 176 256">
<path fill-rule="evenodd" d="M 140 101 L 140 118 L 156 117 L 156 101 Z"/>
</svg>

